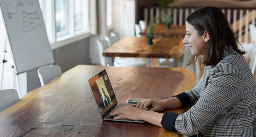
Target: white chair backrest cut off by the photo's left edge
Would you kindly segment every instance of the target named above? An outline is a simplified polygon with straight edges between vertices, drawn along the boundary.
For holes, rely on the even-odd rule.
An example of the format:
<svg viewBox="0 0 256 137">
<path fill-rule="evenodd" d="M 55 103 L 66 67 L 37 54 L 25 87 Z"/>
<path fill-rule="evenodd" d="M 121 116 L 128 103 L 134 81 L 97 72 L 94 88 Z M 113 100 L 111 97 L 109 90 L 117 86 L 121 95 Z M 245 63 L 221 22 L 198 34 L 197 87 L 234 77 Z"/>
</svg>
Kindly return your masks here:
<svg viewBox="0 0 256 137">
<path fill-rule="evenodd" d="M 0 112 L 13 106 L 19 100 L 15 89 L 0 90 Z"/>
</svg>

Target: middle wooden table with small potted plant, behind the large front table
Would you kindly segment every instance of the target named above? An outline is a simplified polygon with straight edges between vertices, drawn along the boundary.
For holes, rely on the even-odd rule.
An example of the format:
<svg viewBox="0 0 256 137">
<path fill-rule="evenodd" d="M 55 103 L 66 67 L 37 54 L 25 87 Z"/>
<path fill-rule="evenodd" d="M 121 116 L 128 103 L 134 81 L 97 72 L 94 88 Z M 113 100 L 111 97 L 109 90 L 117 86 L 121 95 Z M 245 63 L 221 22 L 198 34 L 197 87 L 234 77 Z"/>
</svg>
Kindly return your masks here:
<svg viewBox="0 0 256 137">
<path fill-rule="evenodd" d="M 178 59 L 184 53 L 183 38 L 156 37 L 153 45 L 148 45 L 148 38 L 124 37 L 114 43 L 110 48 L 103 51 L 102 55 L 107 57 L 110 66 L 113 66 L 113 57 L 135 57 L 147 58 L 147 66 L 150 67 L 149 58 L 174 58 L 173 67 L 177 67 Z"/>
</svg>

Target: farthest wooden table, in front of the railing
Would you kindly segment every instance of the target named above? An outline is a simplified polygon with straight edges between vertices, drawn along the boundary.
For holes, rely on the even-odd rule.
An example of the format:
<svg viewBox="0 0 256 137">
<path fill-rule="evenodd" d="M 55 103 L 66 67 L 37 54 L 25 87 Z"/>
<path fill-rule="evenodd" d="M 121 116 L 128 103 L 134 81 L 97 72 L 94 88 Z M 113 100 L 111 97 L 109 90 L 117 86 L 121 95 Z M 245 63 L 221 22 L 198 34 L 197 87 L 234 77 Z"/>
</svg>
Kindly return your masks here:
<svg viewBox="0 0 256 137">
<path fill-rule="evenodd" d="M 148 27 L 140 31 L 140 35 L 148 35 Z M 158 37 L 185 37 L 186 35 L 186 26 L 185 25 L 170 25 L 170 29 L 166 29 L 165 24 L 156 24 L 154 29 L 154 36 Z"/>
</svg>

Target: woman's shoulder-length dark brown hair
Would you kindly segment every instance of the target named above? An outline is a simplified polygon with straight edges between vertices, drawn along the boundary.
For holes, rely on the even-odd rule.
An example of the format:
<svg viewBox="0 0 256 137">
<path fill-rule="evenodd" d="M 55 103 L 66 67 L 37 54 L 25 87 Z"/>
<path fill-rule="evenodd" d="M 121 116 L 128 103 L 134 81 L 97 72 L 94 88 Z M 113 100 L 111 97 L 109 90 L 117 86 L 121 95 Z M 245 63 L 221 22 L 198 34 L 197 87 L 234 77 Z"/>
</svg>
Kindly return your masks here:
<svg viewBox="0 0 256 137">
<path fill-rule="evenodd" d="M 245 54 L 245 51 L 238 48 L 238 40 L 235 38 L 234 30 L 231 28 L 223 12 L 217 7 L 202 7 L 192 12 L 186 19 L 196 30 L 199 36 L 207 31 L 210 40 L 206 43 L 203 55 L 203 64 L 206 66 L 217 65 L 222 60 L 221 52 L 228 46 L 233 48 L 239 54 Z M 239 43 L 240 44 L 240 43 Z M 191 56 L 188 65 L 197 60 L 197 57 Z"/>
</svg>

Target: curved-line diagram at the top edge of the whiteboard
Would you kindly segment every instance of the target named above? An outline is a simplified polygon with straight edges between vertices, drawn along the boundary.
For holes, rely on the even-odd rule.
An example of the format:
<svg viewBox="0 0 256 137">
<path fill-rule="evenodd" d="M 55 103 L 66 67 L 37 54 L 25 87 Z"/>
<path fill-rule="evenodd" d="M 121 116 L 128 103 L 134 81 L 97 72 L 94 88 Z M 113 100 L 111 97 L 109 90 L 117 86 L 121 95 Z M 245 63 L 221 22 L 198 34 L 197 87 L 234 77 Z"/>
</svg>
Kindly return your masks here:
<svg viewBox="0 0 256 137">
<path fill-rule="evenodd" d="M 12 19 L 13 16 L 15 16 L 15 14 L 18 12 L 18 8 L 22 7 L 24 5 L 24 3 L 26 3 L 27 5 L 30 5 L 30 6 L 34 5 L 33 0 L 2 0 L 2 2 L 6 6 L 6 9 L 7 9 L 6 14 L 9 19 Z M 14 3 L 12 3 L 12 2 L 14 2 Z M 11 6 L 16 6 L 16 7 L 11 8 Z M 14 10 L 10 10 L 10 9 L 14 9 Z"/>
</svg>

